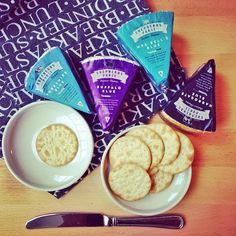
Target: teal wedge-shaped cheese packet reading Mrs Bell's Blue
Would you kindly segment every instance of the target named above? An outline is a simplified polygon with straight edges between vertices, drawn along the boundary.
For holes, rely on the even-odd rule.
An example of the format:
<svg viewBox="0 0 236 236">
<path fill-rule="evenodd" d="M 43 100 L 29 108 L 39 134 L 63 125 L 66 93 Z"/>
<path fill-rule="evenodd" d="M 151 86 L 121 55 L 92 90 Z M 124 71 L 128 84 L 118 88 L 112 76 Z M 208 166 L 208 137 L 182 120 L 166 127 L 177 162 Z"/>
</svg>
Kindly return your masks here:
<svg viewBox="0 0 236 236">
<path fill-rule="evenodd" d="M 117 31 L 120 44 L 161 92 L 168 88 L 173 21 L 173 12 L 154 12 L 134 18 Z"/>
</svg>

